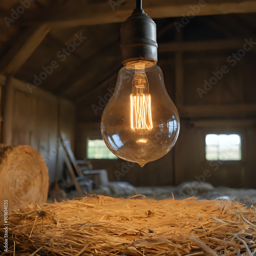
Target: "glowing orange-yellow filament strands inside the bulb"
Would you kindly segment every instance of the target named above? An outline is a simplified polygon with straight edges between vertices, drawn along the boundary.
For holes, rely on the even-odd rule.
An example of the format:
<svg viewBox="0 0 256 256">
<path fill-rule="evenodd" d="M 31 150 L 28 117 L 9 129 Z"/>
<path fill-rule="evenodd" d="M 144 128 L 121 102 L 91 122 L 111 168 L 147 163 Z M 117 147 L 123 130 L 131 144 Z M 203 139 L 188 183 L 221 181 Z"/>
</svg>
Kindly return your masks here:
<svg viewBox="0 0 256 256">
<path fill-rule="evenodd" d="M 131 94 L 131 128 L 142 134 L 152 130 L 151 95 Z"/>
</svg>

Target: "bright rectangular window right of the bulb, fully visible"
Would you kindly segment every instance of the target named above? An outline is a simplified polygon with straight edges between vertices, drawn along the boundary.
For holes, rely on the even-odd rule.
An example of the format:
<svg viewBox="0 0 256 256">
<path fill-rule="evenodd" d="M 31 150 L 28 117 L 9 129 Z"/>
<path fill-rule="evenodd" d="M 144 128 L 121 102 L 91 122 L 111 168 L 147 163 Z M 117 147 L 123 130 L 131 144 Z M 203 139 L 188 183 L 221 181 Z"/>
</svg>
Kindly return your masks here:
<svg viewBox="0 0 256 256">
<path fill-rule="evenodd" d="M 238 134 L 207 134 L 205 137 L 206 160 L 241 160 L 241 137 Z"/>
</svg>

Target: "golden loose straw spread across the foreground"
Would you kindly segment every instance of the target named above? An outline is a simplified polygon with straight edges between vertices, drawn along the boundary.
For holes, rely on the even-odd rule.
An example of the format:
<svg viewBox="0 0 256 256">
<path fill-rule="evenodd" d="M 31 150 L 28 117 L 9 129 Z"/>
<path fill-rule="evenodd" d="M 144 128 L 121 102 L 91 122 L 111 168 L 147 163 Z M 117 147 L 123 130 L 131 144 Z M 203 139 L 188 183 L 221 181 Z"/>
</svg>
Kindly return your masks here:
<svg viewBox="0 0 256 256">
<path fill-rule="evenodd" d="M 1 255 L 256 255 L 255 209 L 227 200 L 88 196 L 29 206 L 8 222 Z"/>
</svg>

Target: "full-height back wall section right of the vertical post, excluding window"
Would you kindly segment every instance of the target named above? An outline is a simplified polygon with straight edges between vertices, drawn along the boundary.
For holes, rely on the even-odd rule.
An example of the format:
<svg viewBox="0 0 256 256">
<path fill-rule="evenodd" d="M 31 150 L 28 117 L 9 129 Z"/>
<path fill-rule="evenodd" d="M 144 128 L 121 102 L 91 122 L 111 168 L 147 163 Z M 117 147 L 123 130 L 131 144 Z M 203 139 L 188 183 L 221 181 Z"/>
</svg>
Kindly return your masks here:
<svg viewBox="0 0 256 256">
<path fill-rule="evenodd" d="M 236 65 L 227 61 L 236 51 L 216 51 L 184 57 L 184 93 L 180 105 L 181 131 L 175 146 L 175 181 L 206 181 L 215 186 L 255 187 L 253 155 L 256 150 L 256 97 L 253 86 L 253 56 L 245 55 Z M 205 81 L 223 66 L 228 68 L 218 82 L 205 90 Z M 213 81 L 213 80 L 212 80 Z M 183 110 L 185 110 L 183 112 Z M 207 134 L 239 134 L 241 161 L 207 161 Z"/>
</svg>

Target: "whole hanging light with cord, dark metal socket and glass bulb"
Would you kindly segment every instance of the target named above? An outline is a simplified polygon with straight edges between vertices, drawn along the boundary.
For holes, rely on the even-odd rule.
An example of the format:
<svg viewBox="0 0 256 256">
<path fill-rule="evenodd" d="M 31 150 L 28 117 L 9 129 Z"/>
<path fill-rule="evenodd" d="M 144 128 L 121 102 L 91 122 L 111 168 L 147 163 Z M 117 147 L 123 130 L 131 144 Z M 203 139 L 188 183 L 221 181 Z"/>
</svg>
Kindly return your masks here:
<svg viewBox="0 0 256 256">
<path fill-rule="evenodd" d="M 176 143 L 180 121 L 157 66 L 156 24 L 142 1 L 121 25 L 123 68 L 101 117 L 101 134 L 121 159 L 144 166 Z"/>
</svg>

